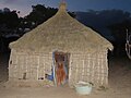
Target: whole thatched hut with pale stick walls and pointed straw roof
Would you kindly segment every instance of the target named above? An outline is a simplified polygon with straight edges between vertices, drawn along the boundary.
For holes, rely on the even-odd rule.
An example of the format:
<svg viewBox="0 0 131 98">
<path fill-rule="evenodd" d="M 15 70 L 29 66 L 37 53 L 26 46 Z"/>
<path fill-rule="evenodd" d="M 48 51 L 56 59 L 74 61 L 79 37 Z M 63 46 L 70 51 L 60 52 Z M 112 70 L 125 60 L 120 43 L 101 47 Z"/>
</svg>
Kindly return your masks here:
<svg viewBox="0 0 131 98">
<path fill-rule="evenodd" d="M 55 16 L 11 42 L 10 48 L 9 82 L 44 84 L 56 60 L 63 57 L 59 61 L 67 63 L 70 86 L 79 81 L 108 84 L 107 52 L 112 45 L 71 17 L 63 2 Z"/>
</svg>

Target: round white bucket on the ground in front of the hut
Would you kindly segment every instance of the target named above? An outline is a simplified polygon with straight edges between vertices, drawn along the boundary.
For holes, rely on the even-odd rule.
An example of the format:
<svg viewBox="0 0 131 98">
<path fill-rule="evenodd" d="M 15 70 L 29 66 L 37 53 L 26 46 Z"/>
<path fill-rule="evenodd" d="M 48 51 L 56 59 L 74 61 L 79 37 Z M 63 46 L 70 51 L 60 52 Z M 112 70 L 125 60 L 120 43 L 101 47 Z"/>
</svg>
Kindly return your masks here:
<svg viewBox="0 0 131 98">
<path fill-rule="evenodd" d="M 93 87 L 93 85 L 91 83 L 79 82 L 75 85 L 75 90 L 80 95 L 90 95 L 92 91 L 92 87 Z"/>
</svg>

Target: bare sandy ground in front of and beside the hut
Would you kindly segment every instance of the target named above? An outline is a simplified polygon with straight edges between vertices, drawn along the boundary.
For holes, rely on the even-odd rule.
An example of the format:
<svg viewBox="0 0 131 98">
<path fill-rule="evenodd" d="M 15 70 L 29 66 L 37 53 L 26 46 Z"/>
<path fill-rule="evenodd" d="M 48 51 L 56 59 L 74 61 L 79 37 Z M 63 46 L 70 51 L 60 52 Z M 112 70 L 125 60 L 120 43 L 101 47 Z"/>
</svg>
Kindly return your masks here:
<svg viewBox="0 0 131 98">
<path fill-rule="evenodd" d="M 0 58 L 0 98 L 131 98 L 131 61 L 126 58 L 109 60 L 109 88 L 94 89 L 81 96 L 63 87 L 5 87 L 8 58 Z"/>
</svg>

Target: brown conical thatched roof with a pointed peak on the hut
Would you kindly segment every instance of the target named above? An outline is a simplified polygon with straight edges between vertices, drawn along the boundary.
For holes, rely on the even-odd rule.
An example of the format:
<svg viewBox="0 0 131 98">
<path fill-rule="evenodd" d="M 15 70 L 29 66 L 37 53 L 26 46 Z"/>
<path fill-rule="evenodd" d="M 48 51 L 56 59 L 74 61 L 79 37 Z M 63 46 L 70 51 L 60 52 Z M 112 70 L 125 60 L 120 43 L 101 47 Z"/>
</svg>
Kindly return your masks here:
<svg viewBox="0 0 131 98">
<path fill-rule="evenodd" d="M 59 11 L 47 22 L 10 44 L 11 49 L 33 51 L 94 51 L 112 49 L 112 45 L 93 29 L 84 26 L 66 11 L 61 3 Z"/>
</svg>

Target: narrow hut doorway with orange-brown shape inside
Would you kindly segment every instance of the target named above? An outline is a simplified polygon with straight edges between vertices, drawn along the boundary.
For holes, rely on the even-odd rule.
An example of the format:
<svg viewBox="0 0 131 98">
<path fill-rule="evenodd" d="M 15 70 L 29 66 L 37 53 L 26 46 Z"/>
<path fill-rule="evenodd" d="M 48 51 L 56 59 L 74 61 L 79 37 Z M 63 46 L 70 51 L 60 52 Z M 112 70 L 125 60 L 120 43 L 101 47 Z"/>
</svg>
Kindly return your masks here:
<svg viewBox="0 0 131 98">
<path fill-rule="evenodd" d="M 55 85 L 61 86 L 68 83 L 70 53 L 56 51 L 52 54 Z"/>
</svg>

